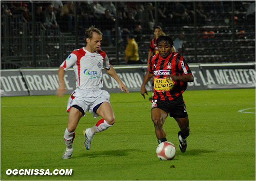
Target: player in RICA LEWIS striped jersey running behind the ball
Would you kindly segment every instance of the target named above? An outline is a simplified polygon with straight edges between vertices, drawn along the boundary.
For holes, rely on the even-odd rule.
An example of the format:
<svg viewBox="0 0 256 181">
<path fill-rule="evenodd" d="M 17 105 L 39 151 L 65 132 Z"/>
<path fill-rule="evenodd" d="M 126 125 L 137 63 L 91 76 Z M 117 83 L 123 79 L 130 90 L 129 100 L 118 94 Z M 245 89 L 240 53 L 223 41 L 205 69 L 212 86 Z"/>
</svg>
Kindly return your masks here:
<svg viewBox="0 0 256 181">
<path fill-rule="evenodd" d="M 186 138 L 189 136 L 189 119 L 182 93 L 187 82 L 194 81 L 194 76 L 183 57 L 171 52 L 173 41 L 169 36 L 157 39 L 159 53 L 149 59 L 149 72 L 153 75 L 154 96 L 151 100 L 151 119 L 154 122 L 158 143 L 167 141 L 163 124 L 168 114 L 178 123 L 181 152 L 186 151 Z M 141 95 L 145 98 L 146 83 L 151 75 L 146 75 L 141 86 Z"/>
</svg>

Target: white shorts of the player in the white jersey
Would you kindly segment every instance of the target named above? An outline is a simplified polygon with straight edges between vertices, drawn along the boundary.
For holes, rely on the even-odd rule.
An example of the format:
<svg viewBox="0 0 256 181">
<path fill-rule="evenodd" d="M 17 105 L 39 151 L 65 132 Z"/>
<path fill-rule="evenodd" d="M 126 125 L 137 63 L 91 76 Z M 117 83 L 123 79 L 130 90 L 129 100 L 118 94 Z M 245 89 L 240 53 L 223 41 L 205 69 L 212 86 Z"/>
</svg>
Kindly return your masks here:
<svg viewBox="0 0 256 181">
<path fill-rule="evenodd" d="M 93 108 L 103 102 L 110 103 L 109 99 L 110 95 L 106 90 L 84 90 L 76 88 L 68 100 L 67 112 L 69 112 L 73 105 L 78 105 L 84 110 L 85 114 L 88 110 L 96 118 L 99 115 L 93 111 Z"/>
</svg>

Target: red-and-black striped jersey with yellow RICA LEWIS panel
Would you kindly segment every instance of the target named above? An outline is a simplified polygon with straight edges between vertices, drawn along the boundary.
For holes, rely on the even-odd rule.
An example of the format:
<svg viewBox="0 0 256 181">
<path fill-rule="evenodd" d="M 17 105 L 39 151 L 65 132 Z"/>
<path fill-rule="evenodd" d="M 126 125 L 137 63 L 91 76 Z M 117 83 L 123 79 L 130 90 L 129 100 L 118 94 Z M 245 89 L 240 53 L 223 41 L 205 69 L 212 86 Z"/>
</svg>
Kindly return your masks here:
<svg viewBox="0 0 256 181">
<path fill-rule="evenodd" d="M 159 53 L 149 59 L 149 72 L 153 74 L 153 99 L 174 100 L 182 96 L 187 82 L 172 81 L 168 76 L 183 76 L 192 74 L 187 62 L 177 52 L 163 58 Z"/>
</svg>

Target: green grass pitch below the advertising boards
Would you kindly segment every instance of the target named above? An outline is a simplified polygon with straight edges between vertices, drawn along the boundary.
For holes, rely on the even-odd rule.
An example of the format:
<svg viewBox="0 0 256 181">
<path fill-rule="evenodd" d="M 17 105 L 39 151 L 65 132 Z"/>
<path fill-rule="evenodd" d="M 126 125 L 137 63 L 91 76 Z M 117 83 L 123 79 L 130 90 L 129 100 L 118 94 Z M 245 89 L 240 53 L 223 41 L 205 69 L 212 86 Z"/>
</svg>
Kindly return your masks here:
<svg viewBox="0 0 256 181">
<path fill-rule="evenodd" d="M 149 92 L 151 95 L 151 92 Z M 1 180 L 255 180 L 255 89 L 188 90 L 190 119 L 185 153 L 178 125 L 168 117 L 166 138 L 176 157 L 161 161 L 151 121 L 151 104 L 139 92 L 110 94 L 116 122 L 96 133 L 90 150 L 83 129 L 100 118 L 90 113 L 75 131 L 74 152 L 62 160 L 69 95 L 1 97 Z M 7 169 L 73 169 L 71 176 L 8 176 Z"/>
</svg>

